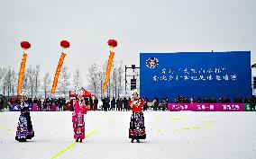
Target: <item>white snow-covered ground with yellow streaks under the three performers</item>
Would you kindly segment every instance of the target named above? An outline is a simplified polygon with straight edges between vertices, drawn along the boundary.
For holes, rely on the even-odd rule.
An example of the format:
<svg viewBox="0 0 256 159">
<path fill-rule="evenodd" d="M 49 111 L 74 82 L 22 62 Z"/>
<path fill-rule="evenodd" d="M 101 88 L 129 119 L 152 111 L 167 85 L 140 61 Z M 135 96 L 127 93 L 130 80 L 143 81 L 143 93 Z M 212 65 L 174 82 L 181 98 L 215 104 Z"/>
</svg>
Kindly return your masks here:
<svg viewBox="0 0 256 159">
<path fill-rule="evenodd" d="M 88 111 L 73 139 L 71 112 L 31 112 L 35 137 L 15 141 L 20 112 L 0 112 L 1 159 L 255 159 L 255 112 L 144 112 L 147 138 L 131 143 L 131 111 Z"/>
</svg>

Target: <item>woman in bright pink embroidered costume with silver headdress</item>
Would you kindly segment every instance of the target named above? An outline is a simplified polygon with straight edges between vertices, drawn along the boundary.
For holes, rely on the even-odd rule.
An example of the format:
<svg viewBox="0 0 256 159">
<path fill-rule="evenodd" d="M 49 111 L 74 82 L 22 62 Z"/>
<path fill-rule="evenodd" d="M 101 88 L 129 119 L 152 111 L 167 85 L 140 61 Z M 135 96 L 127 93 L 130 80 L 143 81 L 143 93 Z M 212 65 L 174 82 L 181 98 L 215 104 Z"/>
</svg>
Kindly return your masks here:
<svg viewBox="0 0 256 159">
<path fill-rule="evenodd" d="M 83 100 L 83 94 L 83 89 L 77 89 L 78 99 L 74 100 L 73 102 L 74 112 L 72 115 L 72 122 L 74 128 L 74 138 L 76 139 L 76 142 L 78 142 L 79 139 L 79 142 L 82 142 L 82 140 L 85 138 L 84 115 L 87 114 L 87 105 Z"/>
</svg>

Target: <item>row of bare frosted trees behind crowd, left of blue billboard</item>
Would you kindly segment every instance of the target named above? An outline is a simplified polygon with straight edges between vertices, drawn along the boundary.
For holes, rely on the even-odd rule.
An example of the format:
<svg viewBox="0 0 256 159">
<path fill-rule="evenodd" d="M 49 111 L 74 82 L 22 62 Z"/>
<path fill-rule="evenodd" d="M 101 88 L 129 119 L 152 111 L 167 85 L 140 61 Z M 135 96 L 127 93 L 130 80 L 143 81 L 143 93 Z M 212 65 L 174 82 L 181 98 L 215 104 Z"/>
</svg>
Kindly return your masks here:
<svg viewBox="0 0 256 159">
<path fill-rule="evenodd" d="M 96 63 L 88 67 L 87 74 L 87 86 L 85 88 L 90 92 L 100 96 L 104 95 L 109 97 L 119 97 L 123 93 L 123 63 L 114 62 L 112 67 L 112 74 L 107 86 L 107 92 L 103 94 L 103 84 L 105 82 L 105 68 L 107 62 L 103 65 L 97 65 Z M 14 69 L 13 66 L 0 67 L 0 90 L 4 95 L 14 96 L 16 95 L 18 84 L 19 72 Z M 71 82 L 72 80 L 72 82 Z M 72 83 L 72 84 L 71 84 Z M 41 66 L 28 66 L 25 69 L 23 77 L 23 89 L 30 90 L 31 97 L 38 97 L 39 93 L 44 93 L 44 97 L 50 96 L 50 89 L 52 84 L 52 77 L 47 72 L 44 75 L 41 74 Z M 71 79 L 71 74 L 67 66 L 61 69 L 61 73 L 58 81 L 58 93 L 67 96 L 69 91 L 74 92 L 76 87 L 83 86 L 83 78 L 79 69 L 77 69 Z"/>
</svg>

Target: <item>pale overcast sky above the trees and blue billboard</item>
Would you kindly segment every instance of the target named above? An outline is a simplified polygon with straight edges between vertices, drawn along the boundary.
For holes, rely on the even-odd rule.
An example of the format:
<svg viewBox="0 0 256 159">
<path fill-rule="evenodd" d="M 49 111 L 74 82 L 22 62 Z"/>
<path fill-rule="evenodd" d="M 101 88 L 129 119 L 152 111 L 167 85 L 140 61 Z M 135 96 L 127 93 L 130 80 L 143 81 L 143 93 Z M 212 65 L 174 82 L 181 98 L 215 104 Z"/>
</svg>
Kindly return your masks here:
<svg viewBox="0 0 256 159">
<path fill-rule="evenodd" d="M 79 68 L 109 55 L 108 39 L 118 41 L 115 60 L 139 65 L 140 52 L 251 50 L 256 63 L 255 0 L 0 0 L 0 66 L 20 67 L 28 40 L 27 66 L 41 64 L 51 77 L 61 53 L 64 66 Z M 253 71 L 252 74 L 255 74 Z"/>
</svg>

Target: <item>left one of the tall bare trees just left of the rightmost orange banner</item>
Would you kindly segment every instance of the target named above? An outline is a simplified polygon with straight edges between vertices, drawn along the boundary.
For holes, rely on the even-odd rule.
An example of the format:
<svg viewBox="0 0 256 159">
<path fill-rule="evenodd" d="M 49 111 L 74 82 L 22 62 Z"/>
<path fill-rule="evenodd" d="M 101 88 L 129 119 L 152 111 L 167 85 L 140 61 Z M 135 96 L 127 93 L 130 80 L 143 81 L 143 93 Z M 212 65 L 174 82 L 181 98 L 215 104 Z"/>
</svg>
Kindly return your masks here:
<svg viewBox="0 0 256 159">
<path fill-rule="evenodd" d="M 89 82 L 89 89 L 94 92 L 94 94 L 97 93 L 99 89 L 99 80 L 98 80 L 98 66 L 96 63 L 92 64 L 91 66 L 88 67 L 88 82 Z"/>
</svg>

